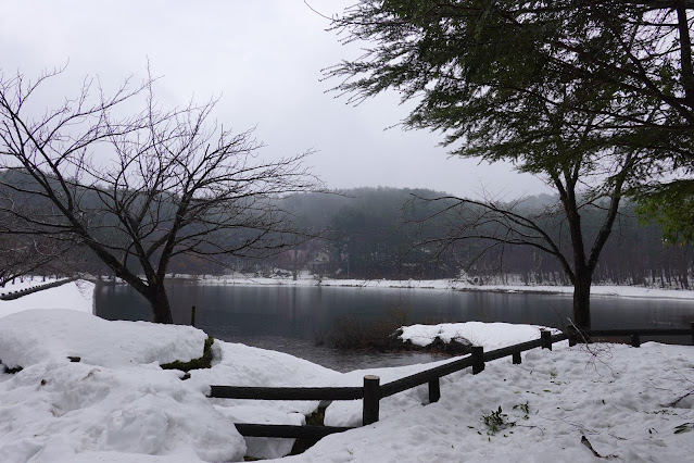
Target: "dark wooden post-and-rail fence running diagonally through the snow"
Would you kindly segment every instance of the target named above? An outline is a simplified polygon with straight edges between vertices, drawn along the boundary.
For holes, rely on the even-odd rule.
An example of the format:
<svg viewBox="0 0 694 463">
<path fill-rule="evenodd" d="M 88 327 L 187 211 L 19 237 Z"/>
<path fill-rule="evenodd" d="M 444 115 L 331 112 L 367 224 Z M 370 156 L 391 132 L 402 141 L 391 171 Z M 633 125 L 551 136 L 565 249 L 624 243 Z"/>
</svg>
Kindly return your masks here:
<svg viewBox="0 0 694 463">
<path fill-rule="evenodd" d="M 380 385 L 380 378 L 374 375 L 364 376 L 363 387 L 237 387 L 210 386 L 210 398 L 217 399 L 255 399 L 255 400 L 355 400 L 363 399 L 362 424 L 364 426 L 376 423 L 379 415 L 379 401 L 386 397 L 412 389 L 416 386 L 429 385 L 429 402 L 437 402 L 441 398 L 439 379 L 460 370 L 472 367 L 472 374 L 484 370 L 484 362 L 504 356 L 513 356 L 514 363 L 520 363 L 520 353 L 538 347 L 552 350 L 554 342 L 568 339 L 565 333 L 552 335 L 542 330 L 541 338 L 515 346 L 508 346 L 490 352 L 482 347 L 472 347 L 471 355 L 434 366 L 425 372 L 416 373 L 404 378 Z M 261 425 L 235 423 L 237 430 L 247 437 L 294 437 L 319 439 L 329 434 L 342 433 L 352 427 L 338 426 L 291 426 L 291 425 Z"/>
</svg>

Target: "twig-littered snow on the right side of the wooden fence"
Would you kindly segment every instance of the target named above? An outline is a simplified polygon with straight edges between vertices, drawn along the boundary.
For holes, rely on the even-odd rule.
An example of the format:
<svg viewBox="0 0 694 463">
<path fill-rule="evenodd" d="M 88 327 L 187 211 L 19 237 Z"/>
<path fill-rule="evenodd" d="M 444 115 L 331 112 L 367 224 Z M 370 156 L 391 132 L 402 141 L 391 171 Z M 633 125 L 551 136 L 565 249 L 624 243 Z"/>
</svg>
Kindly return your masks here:
<svg viewBox="0 0 694 463">
<path fill-rule="evenodd" d="M 439 402 L 381 414 L 282 462 L 601 461 L 582 437 L 615 461 L 691 461 L 692 430 L 676 430 L 694 427 L 694 396 L 671 402 L 694 389 L 692 354 L 654 342 L 535 349 L 521 365 L 502 359 L 449 375 Z M 515 426 L 492 434 L 482 415 L 499 406 Z"/>
</svg>

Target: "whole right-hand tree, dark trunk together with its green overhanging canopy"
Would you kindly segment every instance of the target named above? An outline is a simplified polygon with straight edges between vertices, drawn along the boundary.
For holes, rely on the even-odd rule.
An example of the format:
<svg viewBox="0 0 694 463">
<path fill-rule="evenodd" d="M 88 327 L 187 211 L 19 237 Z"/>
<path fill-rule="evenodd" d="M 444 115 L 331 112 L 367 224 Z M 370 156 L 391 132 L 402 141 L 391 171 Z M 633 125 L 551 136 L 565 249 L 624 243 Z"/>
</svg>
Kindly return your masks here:
<svg viewBox="0 0 694 463">
<path fill-rule="evenodd" d="M 366 52 L 327 75 L 352 102 L 394 89 L 417 102 L 404 127 L 440 130 L 454 154 L 510 161 L 555 187 L 560 208 L 544 216 L 462 199 L 483 212 L 437 241 L 485 237 L 487 249 L 553 255 L 573 284 L 576 324 L 590 327 L 593 274 L 626 190 L 692 165 L 689 23 L 674 1 L 362 0 L 333 26 Z M 581 220 L 595 207 L 606 212 L 588 241 Z M 564 221 L 570 248 L 548 234 Z"/>
</svg>

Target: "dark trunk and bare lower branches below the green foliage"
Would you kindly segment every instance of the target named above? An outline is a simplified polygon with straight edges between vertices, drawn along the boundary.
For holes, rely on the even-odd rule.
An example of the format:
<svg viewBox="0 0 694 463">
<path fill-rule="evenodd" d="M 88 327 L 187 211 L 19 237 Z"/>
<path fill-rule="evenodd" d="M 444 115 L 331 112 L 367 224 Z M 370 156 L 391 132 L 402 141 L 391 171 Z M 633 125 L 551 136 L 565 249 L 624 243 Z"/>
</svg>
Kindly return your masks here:
<svg viewBox="0 0 694 463">
<path fill-rule="evenodd" d="M 444 220 L 438 237 L 416 246 L 436 245 L 439 255 L 462 240 L 482 240 L 472 260 L 491 249 L 506 246 L 529 246 L 552 255 L 573 285 L 573 322 L 583 328 L 591 326 L 590 292 L 601 252 L 613 230 L 626 185 L 632 179 L 642 157 L 634 150 L 615 151 L 611 163 L 579 152 L 542 168 L 558 193 L 558 203 L 529 211 L 522 200 L 504 203 L 491 198 L 471 200 L 456 197 L 415 198 L 414 203 L 441 202 L 442 208 L 419 218 Z M 600 153 L 598 153 L 600 154 Z M 601 183 L 588 188 L 591 176 Z M 583 186 L 581 191 L 579 188 Z M 596 229 L 585 224 L 588 211 L 601 216 Z"/>
</svg>

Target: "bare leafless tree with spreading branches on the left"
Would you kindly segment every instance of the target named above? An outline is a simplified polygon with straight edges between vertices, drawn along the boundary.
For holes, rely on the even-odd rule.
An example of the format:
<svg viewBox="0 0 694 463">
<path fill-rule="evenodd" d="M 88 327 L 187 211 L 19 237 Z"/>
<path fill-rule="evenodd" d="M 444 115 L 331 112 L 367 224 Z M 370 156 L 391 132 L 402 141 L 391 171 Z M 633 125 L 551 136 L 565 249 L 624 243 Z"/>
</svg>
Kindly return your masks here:
<svg viewBox="0 0 694 463">
<path fill-rule="evenodd" d="M 215 101 L 165 111 L 152 78 L 112 96 L 86 80 L 37 116 L 38 93 L 59 73 L 0 75 L 0 204 L 13 234 L 79 241 L 159 323 L 172 323 L 173 258 L 250 258 L 289 242 L 296 230 L 274 199 L 318 186 L 302 164 L 307 153 L 263 162 L 252 130 L 211 121 Z M 119 115 L 137 102 L 144 109 Z"/>
</svg>

